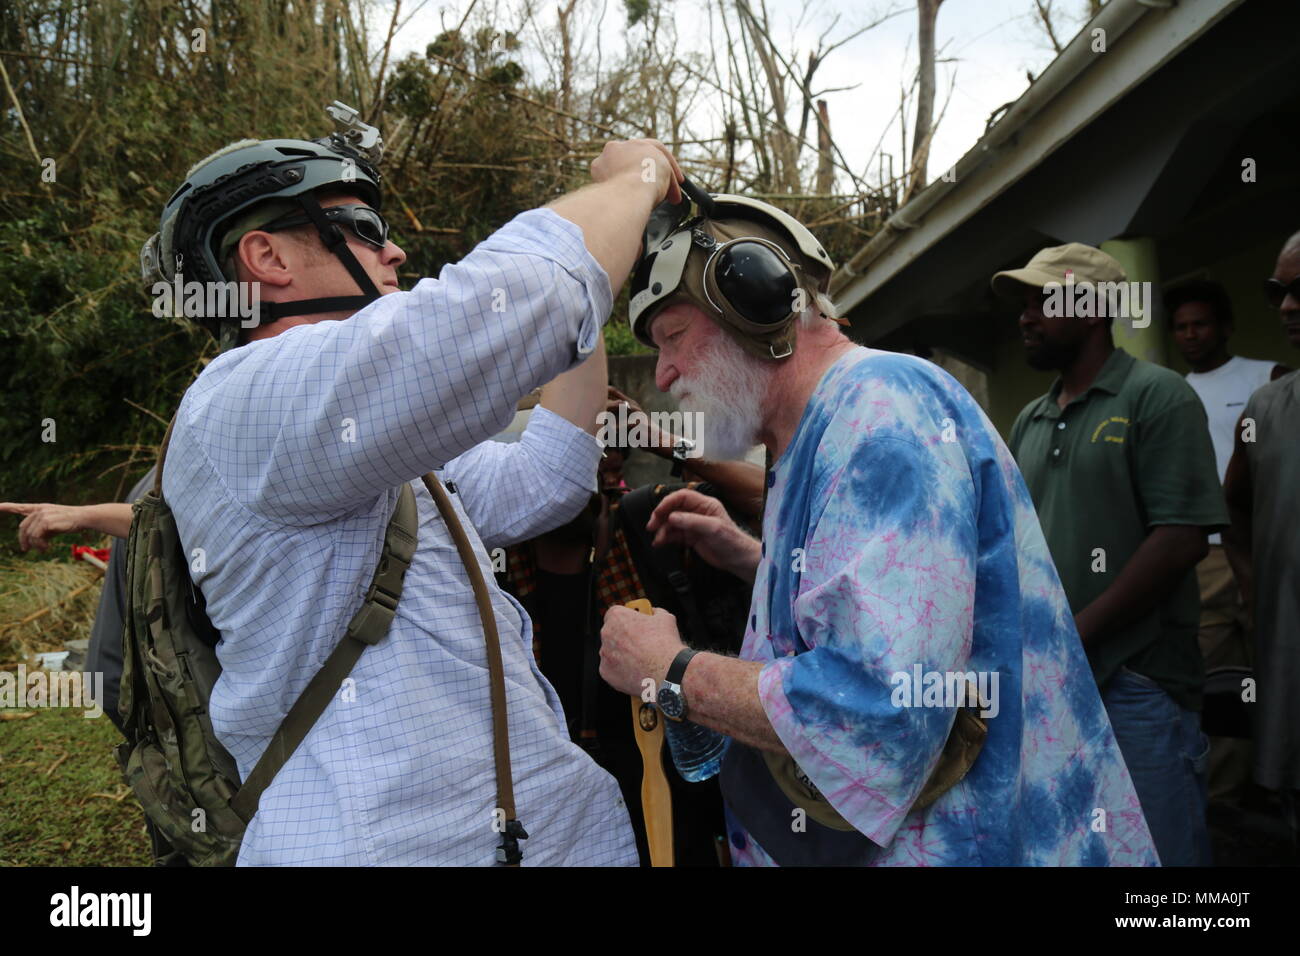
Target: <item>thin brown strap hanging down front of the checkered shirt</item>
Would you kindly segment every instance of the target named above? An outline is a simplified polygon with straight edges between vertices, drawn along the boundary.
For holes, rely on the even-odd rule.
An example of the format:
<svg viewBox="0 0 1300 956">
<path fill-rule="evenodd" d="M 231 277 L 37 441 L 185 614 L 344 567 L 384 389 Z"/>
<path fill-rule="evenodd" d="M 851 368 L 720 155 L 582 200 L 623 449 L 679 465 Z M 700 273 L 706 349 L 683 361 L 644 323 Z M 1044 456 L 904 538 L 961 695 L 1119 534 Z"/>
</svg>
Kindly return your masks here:
<svg viewBox="0 0 1300 956">
<path fill-rule="evenodd" d="M 515 818 L 515 782 L 510 773 L 510 726 L 506 719 L 506 670 L 500 661 L 500 639 L 497 635 L 497 615 L 491 609 L 491 597 L 488 594 L 488 584 L 484 581 L 482 571 L 478 568 L 478 558 L 465 529 L 460 527 L 451 499 L 443 490 L 438 477 L 429 472 L 424 476 L 424 485 L 433 496 L 438 506 L 438 514 L 451 532 L 456 542 L 456 551 L 460 553 L 460 562 L 469 572 L 469 583 L 474 589 L 474 602 L 478 605 L 478 618 L 484 626 L 484 639 L 488 645 L 488 679 L 491 685 L 491 726 L 493 726 L 493 760 L 497 765 L 497 808 L 506 817 L 506 829 L 502 834 L 502 845 L 497 848 L 497 862 L 507 866 L 519 866 L 524 858 L 519 848 L 519 842 L 528 839 L 524 825 Z"/>
</svg>

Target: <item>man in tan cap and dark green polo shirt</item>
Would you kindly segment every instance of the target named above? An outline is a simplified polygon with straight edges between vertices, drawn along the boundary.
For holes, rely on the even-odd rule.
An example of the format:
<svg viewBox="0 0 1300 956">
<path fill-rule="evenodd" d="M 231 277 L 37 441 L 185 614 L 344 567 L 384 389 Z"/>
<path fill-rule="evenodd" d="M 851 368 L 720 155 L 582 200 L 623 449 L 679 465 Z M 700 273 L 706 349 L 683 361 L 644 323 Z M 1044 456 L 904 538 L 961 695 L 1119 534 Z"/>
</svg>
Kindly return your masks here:
<svg viewBox="0 0 1300 956">
<path fill-rule="evenodd" d="M 1024 300 L 1028 363 L 1060 372 L 1008 444 L 1156 849 L 1208 865 L 1196 563 L 1227 512 L 1205 408 L 1182 376 L 1115 349 L 1115 315 L 1150 299 L 1105 252 L 1044 248 L 993 289 Z"/>
</svg>

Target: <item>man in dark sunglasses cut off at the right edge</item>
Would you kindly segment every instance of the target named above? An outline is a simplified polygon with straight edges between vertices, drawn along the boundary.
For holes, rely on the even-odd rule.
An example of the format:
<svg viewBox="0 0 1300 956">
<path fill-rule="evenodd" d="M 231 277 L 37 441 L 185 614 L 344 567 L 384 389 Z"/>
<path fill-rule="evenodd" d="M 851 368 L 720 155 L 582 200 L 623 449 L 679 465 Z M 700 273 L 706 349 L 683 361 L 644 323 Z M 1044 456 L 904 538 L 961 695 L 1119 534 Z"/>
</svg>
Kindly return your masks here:
<svg viewBox="0 0 1300 956">
<path fill-rule="evenodd" d="M 1278 255 L 1265 295 L 1300 349 L 1300 233 Z M 1292 832 L 1300 797 L 1300 372 L 1260 388 L 1236 427 L 1223 494 L 1247 606 L 1254 609 L 1254 779 L 1278 791 Z"/>
</svg>

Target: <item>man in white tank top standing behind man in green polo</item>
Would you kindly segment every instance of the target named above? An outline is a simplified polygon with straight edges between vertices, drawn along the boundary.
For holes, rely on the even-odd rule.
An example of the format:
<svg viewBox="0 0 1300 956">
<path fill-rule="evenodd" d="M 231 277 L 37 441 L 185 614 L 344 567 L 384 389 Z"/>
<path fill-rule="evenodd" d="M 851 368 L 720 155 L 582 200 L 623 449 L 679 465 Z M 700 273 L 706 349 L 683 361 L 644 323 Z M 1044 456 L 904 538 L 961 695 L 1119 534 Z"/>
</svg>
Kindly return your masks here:
<svg viewBox="0 0 1300 956">
<path fill-rule="evenodd" d="M 1223 481 L 1236 420 L 1261 385 L 1290 369 L 1273 362 L 1245 359 L 1227 350 L 1232 334 L 1232 303 L 1218 282 L 1196 280 L 1171 289 L 1165 310 L 1174 343 L 1191 365 L 1187 384 L 1205 406 L 1214 463 Z M 1201 589 L 1201 656 L 1206 674 L 1219 667 L 1253 666 L 1253 643 L 1242 594 L 1219 535 L 1210 535 L 1210 551 L 1196 567 Z M 1209 800 L 1238 805 L 1251 777 L 1247 740 L 1210 737 Z"/>
</svg>

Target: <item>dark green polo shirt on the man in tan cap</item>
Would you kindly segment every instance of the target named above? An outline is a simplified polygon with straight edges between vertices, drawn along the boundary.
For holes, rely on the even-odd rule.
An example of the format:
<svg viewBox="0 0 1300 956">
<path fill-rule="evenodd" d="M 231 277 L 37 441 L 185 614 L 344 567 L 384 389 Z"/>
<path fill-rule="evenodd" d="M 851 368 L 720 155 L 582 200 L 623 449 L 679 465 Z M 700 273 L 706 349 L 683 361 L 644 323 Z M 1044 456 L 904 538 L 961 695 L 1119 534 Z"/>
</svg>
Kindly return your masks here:
<svg viewBox="0 0 1300 956">
<path fill-rule="evenodd" d="M 1065 408 L 1061 380 L 1011 427 L 1011 454 L 1078 614 L 1123 570 L 1152 528 L 1227 525 L 1205 407 L 1180 375 L 1117 349 Z M 1100 687 L 1128 667 L 1200 710 L 1205 669 L 1196 570 L 1150 614 L 1088 649 Z"/>
</svg>

